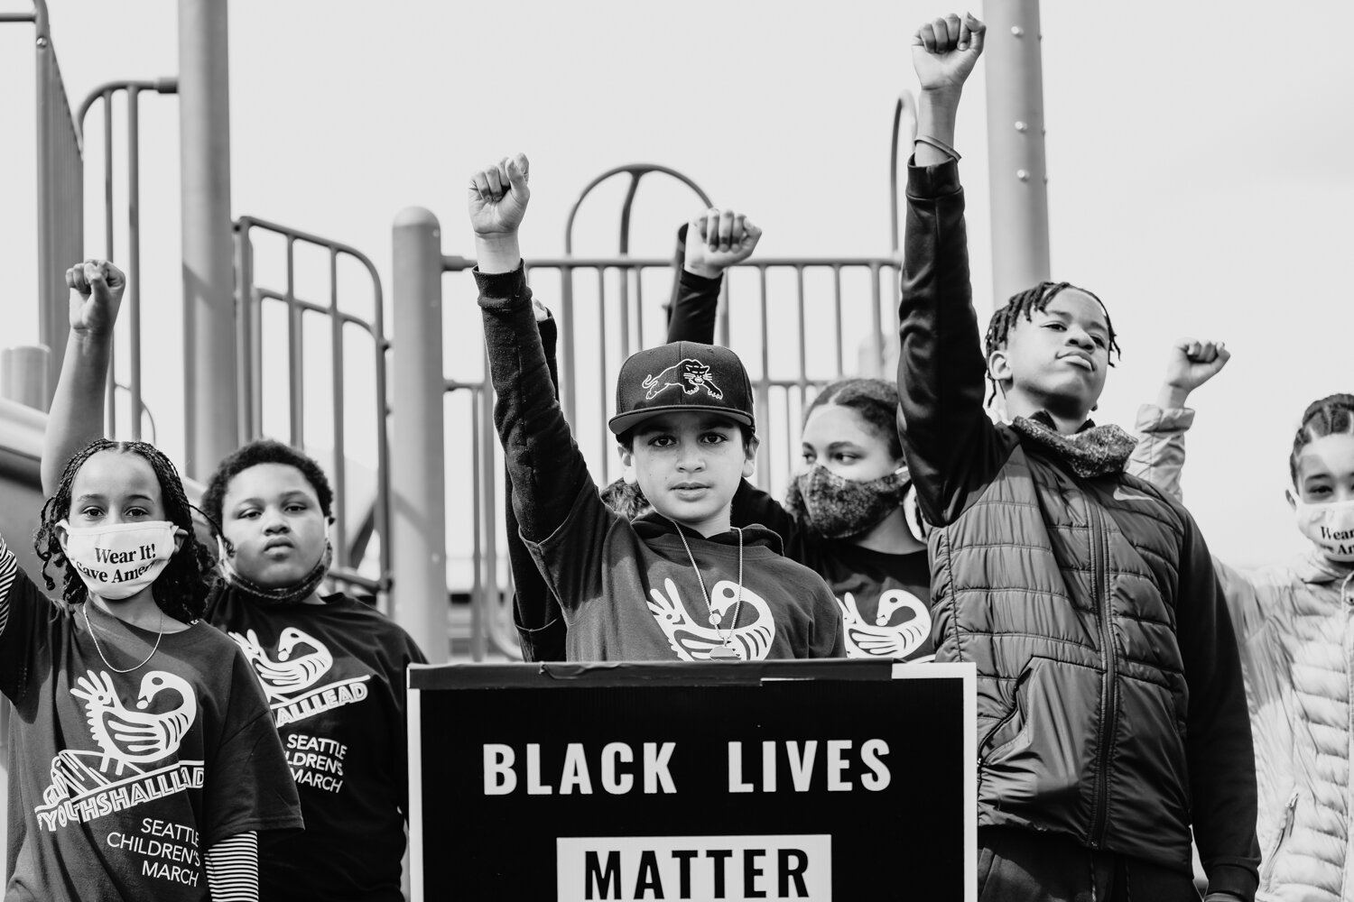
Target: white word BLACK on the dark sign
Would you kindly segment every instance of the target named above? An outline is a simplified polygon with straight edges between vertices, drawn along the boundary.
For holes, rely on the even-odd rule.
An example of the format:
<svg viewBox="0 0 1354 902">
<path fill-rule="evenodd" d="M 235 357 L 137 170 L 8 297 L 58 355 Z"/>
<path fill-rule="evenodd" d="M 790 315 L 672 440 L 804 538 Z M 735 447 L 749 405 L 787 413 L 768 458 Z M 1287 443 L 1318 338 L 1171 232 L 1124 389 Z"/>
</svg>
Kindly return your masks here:
<svg viewBox="0 0 1354 902">
<path fill-rule="evenodd" d="M 626 795 L 636 788 L 635 775 L 640 782 L 639 791 L 645 795 L 670 794 L 677 791 L 673 782 L 672 757 L 676 742 L 643 742 L 639 748 L 639 765 L 635 767 L 635 749 L 626 742 L 608 742 L 590 764 L 589 749 L 582 742 L 569 742 L 563 759 L 556 764 L 542 760 L 539 742 L 527 742 L 525 774 L 527 795 L 592 795 L 593 772 L 604 792 Z M 517 749 L 502 742 L 483 745 L 483 788 L 485 795 L 510 795 L 519 787 Z M 558 779 L 556 779 L 558 778 Z"/>
</svg>

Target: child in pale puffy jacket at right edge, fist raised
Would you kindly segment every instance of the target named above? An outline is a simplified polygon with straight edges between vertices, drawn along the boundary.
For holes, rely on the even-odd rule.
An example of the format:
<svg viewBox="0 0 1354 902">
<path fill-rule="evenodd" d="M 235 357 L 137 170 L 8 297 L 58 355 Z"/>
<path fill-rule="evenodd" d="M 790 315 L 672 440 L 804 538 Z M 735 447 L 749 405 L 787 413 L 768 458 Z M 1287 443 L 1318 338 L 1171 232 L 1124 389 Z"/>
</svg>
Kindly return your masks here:
<svg viewBox="0 0 1354 902">
<path fill-rule="evenodd" d="M 1179 498 L 1190 391 L 1229 358 L 1221 342 L 1179 339 L 1156 404 L 1144 404 L 1129 472 Z M 1285 495 L 1311 548 L 1296 560 L 1240 572 L 1216 561 L 1240 648 L 1259 787 L 1257 834 L 1265 898 L 1342 898 L 1354 867 L 1350 820 L 1330 799 L 1349 791 L 1354 737 L 1349 686 L 1354 642 L 1354 395 L 1303 412 Z"/>
</svg>

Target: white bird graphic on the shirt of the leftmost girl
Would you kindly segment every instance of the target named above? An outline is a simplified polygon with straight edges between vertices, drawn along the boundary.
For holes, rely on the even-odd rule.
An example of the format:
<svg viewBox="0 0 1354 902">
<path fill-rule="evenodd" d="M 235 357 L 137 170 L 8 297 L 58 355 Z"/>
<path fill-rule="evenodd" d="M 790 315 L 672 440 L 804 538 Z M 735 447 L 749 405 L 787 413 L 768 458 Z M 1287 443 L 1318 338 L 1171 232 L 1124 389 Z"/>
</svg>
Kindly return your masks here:
<svg viewBox="0 0 1354 902">
<path fill-rule="evenodd" d="M 146 711 L 161 690 L 177 692 L 179 706 L 162 714 Z M 85 701 L 89 734 L 103 752 L 99 769 L 106 771 L 115 761 L 119 775 L 127 765 L 139 769 L 134 765 L 158 761 L 177 752 L 198 717 L 192 686 L 181 676 L 164 671 L 150 671 L 141 679 L 141 694 L 137 696 L 141 710 L 135 711 L 123 707 L 107 673 L 88 671 L 88 676 L 76 680 L 70 694 Z"/>
</svg>

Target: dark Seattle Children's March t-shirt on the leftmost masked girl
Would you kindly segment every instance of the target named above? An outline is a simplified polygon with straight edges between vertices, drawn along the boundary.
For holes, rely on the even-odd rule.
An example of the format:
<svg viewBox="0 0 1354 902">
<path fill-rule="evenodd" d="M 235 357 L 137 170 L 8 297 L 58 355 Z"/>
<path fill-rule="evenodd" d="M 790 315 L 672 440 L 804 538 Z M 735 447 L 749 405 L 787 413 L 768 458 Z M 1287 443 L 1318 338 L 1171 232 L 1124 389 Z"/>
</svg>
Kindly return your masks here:
<svg viewBox="0 0 1354 902">
<path fill-rule="evenodd" d="M 200 621 L 161 636 L 54 603 L 3 541 L 0 691 L 14 703 L 5 898 L 198 902 L 217 842 L 302 826 L 234 642 Z"/>
</svg>

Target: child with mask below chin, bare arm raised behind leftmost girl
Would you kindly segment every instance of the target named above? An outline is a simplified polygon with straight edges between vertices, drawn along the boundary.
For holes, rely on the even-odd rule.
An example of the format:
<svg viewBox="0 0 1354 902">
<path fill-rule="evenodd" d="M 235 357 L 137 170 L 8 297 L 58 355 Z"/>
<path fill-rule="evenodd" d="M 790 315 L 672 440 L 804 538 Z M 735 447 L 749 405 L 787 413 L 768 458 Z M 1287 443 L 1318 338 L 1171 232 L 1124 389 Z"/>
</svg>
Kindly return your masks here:
<svg viewBox="0 0 1354 902">
<path fill-rule="evenodd" d="M 102 423 L 123 280 L 112 264 L 88 261 L 66 281 L 72 331 L 47 421 L 45 480 Z M 286 748 L 306 821 L 303 832 L 261 837 L 263 895 L 402 902 L 405 671 L 425 659 L 380 611 L 322 591 L 332 504 L 324 469 L 288 445 L 255 441 L 226 456 L 202 498 L 219 560 L 198 611 L 234 640 L 267 696 L 265 722 Z"/>
</svg>

